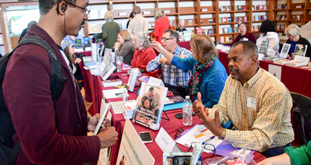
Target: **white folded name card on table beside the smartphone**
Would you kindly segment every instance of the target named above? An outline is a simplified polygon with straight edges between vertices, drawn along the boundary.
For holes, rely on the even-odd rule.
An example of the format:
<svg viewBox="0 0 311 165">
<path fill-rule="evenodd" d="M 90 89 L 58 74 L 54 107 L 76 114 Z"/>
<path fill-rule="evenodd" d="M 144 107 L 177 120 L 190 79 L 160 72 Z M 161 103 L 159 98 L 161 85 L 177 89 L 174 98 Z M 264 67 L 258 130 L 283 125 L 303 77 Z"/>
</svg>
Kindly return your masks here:
<svg viewBox="0 0 311 165">
<path fill-rule="evenodd" d="M 163 152 L 181 152 L 180 148 L 177 147 L 172 137 L 163 127 L 160 128 L 160 131 L 156 135 L 155 142 Z"/>
</svg>

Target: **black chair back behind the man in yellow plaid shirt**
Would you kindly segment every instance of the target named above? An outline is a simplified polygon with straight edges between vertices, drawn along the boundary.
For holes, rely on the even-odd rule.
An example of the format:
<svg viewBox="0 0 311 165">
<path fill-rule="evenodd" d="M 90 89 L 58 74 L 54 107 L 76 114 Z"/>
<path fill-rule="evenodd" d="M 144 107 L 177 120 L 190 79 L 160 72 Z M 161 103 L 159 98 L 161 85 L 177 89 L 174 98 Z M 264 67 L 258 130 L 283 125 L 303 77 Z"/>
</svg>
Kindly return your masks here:
<svg viewBox="0 0 311 165">
<path fill-rule="evenodd" d="M 294 124 L 296 132 L 300 125 L 300 134 L 304 144 L 311 140 L 311 98 L 291 92 L 293 98 Z"/>
</svg>

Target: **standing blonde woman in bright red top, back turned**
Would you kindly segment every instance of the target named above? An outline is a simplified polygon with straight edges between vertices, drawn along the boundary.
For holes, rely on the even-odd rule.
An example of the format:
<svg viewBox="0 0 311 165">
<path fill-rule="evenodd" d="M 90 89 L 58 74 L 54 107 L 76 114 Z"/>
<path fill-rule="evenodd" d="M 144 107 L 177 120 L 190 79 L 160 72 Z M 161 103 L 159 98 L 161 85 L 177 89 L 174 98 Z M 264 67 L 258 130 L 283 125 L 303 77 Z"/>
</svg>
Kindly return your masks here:
<svg viewBox="0 0 311 165">
<path fill-rule="evenodd" d="M 155 31 L 152 34 L 152 39 L 161 43 L 161 37 L 166 30 L 170 28 L 170 21 L 167 16 L 165 16 L 161 9 L 156 8 L 154 10 L 155 16 Z"/>
</svg>

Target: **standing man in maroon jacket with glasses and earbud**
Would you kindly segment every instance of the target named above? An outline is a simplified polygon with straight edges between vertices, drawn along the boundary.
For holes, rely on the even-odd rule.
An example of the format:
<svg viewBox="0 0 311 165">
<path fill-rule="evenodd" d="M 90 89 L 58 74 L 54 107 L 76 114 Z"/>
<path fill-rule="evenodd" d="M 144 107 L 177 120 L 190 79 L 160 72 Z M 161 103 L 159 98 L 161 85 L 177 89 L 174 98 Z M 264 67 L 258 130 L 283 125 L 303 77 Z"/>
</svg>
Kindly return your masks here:
<svg viewBox="0 0 311 165">
<path fill-rule="evenodd" d="M 88 19 L 87 5 L 88 0 L 39 0 L 39 22 L 26 34 L 40 36 L 60 61 L 66 82 L 54 103 L 50 58 L 45 49 L 23 45 L 8 62 L 2 88 L 16 129 L 13 138 L 21 144 L 16 165 L 97 165 L 100 148 L 117 140 L 114 127 L 86 136 L 87 131 L 94 131 L 99 115 L 87 123 L 82 95 L 59 47 L 66 35 L 78 34 Z"/>
</svg>

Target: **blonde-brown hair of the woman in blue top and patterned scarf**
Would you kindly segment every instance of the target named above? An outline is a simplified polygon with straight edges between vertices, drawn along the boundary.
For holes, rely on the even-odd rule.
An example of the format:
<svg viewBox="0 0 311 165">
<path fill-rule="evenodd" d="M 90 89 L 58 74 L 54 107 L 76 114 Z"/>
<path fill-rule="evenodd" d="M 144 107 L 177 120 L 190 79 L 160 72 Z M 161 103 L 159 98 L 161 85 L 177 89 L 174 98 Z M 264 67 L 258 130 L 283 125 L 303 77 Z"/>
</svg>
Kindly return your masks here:
<svg viewBox="0 0 311 165">
<path fill-rule="evenodd" d="M 193 54 L 198 55 L 200 63 L 215 61 L 218 56 L 213 40 L 207 34 L 196 34 L 190 39 L 190 46 Z M 202 53 L 202 57 L 199 54 Z"/>
</svg>

